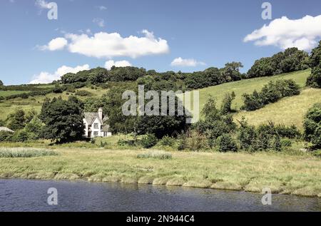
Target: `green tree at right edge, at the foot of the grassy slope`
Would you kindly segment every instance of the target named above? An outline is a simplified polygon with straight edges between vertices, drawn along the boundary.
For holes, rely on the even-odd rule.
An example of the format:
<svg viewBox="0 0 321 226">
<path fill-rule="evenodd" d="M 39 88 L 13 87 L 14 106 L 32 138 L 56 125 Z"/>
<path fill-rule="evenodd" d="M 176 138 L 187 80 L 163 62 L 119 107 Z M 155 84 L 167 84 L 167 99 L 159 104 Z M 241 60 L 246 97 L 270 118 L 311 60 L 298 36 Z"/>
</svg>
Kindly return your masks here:
<svg viewBox="0 0 321 226">
<path fill-rule="evenodd" d="M 321 148 L 321 103 L 309 109 L 305 115 L 305 140 L 313 143 L 316 148 Z"/>
</svg>

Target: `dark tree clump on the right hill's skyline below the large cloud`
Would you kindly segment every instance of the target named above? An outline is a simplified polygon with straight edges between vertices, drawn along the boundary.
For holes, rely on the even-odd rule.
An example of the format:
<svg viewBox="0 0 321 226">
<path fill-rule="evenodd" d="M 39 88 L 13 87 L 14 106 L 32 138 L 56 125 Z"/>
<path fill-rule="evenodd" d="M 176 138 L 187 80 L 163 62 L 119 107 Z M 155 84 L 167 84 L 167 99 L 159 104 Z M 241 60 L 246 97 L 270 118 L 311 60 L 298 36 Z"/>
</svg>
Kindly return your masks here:
<svg viewBox="0 0 321 226">
<path fill-rule="evenodd" d="M 280 73 L 300 71 L 309 68 L 309 55 L 297 48 L 287 48 L 271 57 L 260 58 L 246 74 L 246 78 L 275 76 Z"/>
</svg>

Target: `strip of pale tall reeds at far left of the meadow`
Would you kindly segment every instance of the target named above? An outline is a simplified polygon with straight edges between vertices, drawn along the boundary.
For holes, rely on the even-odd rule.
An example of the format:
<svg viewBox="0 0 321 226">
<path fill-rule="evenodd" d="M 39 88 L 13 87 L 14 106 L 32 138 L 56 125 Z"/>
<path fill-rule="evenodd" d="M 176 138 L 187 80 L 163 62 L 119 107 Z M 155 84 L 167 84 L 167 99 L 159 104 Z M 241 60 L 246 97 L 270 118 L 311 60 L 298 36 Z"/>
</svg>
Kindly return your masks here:
<svg viewBox="0 0 321 226">
<path fill-rule="evenodd" d="M 0 148 L 0 158 L 34 158 L 58 155 L 54 150 L 36 148 Z"/>
</svg>

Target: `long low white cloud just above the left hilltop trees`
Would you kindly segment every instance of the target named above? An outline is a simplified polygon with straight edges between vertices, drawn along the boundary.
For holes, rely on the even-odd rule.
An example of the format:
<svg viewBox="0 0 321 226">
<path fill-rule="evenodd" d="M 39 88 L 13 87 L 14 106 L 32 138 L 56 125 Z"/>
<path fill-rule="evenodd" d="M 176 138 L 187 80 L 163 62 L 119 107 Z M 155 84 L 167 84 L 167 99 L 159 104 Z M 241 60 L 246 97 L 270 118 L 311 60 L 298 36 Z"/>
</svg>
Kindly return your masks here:
<svg viewBox="0 0 321 226">
<path fill-rule="evenodd" d="M 34 76 L 34 80 L 32 80 L 30 84 L 51 83 L 54 80 L 60 79 L 60 77 L 65 75 L 66 73 L 77 73 L 78 71 L 85 70 L 89 70 L 88 64 L 84 64 L 83 66 L 76 66 L 75 68 L 61 66 L 55 73 L 49 73 L 46 71 L 39 73 L 39 75 Z"/>
</svg>

